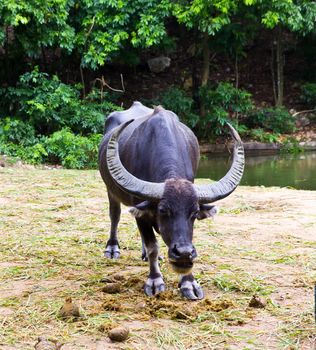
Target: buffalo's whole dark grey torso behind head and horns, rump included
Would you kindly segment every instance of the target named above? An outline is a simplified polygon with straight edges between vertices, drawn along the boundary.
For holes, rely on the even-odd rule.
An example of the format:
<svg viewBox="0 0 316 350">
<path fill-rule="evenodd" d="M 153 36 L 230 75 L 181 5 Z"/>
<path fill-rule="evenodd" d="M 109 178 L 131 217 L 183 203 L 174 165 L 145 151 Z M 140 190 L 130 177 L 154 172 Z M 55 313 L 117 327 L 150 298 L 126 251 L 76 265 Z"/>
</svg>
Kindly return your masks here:
<svg viewBox="0 0 316 350">
<path fill-rule="evenodd" d="M 100 172 L 108 190 L 120 201 L 132 205 L 111 179 L 106 164 L 106 147 L 113 129 L 129 120 L 119 138 L 119 154 L 124 167 L 139 179 L 164 182 L 182 178 L 191 182 L 196 174 L 199 146 L 193 132 L 171 111 L 150 109 L 134 102 L 126 111 L 113 112 L 106 121 L 106 133 L 99 151 Z"/>
</svg>

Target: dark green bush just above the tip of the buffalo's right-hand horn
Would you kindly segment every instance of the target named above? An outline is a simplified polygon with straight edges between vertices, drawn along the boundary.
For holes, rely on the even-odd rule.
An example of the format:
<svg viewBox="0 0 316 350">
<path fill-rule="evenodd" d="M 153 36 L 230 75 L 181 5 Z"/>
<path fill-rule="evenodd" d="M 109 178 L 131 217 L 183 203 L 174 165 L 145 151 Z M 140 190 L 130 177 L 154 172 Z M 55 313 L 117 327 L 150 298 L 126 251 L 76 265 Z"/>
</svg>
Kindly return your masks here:
<svg viewBox="0 0 316 350">
<path fill-rule="evenodd" d="M 238 123 L 237 118 L 253 108 L 249 92 L 225 82 L 215 88 L 202 87 L 200 98 L 206 112 L 199 124 L 200 134 L 204 138 L 220 135 L 227 121 Z"/>
</svg>

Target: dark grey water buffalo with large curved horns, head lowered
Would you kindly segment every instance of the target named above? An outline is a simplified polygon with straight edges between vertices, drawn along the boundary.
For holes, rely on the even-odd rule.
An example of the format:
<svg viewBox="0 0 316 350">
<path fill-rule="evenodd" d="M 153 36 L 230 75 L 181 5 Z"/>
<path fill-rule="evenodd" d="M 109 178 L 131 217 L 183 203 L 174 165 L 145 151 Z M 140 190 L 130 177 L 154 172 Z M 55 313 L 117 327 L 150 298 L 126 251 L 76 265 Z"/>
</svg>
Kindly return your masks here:
<svg viewBox="0 0 316 350">
<path fill-rule="evenodd" d="M 117 227 L 120 203 L 131 206 L 143 242 L 142 256 L 149 260 L 145 293 L 165 290 L 158 265 L 154 230 L 168 246 L 168 258 L 180 274 L 179 288 L 188 299 L 202 299 L 203 291 L 191 270 L 197 256 L 192 244 L 193 224 L 213 216 L 213 203 L 238 186 L 244 169 L 244 149 L 238 133 L 234 139 L 233 163 L 218 182 L 195 185 L 199 145 L 193 132 L 171 111 L 150 109 L 140 102 L 109 115 L 99 149 L 101 176 L 108 190 L 111 231 L 105 256 L 120 255 Z"/>
</svg>

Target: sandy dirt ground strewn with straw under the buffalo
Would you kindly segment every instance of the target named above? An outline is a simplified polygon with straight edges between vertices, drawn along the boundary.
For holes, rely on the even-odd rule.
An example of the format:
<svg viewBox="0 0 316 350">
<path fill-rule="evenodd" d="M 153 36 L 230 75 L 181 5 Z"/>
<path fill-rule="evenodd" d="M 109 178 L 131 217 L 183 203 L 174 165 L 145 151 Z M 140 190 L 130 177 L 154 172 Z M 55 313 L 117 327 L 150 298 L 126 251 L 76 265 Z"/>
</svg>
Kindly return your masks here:
<svg viewBox="0 0 316 350">
<path fill-rule="evenodd" d="M 182 299 L 166 260 L 168 290 L 149 298 L 127 208 L 121 258 L 103 257 L 108 203 L 97 171 L 0 168 L 0 349 L 33 349 L 41 335 L 63 350 L 316 349 L 316 192 L 240 187 L 218 205 L 213 222 L 195 227 L 205 299 Z M 113 281 L 119 292 L 103 292 Z M 265 307 L 249 307 L 253 295 Z M 69 296 L 81 317 L 64 320 Z M 115 325 L 129 327 L 125 342 L 107 337 Z"/>
</svg>

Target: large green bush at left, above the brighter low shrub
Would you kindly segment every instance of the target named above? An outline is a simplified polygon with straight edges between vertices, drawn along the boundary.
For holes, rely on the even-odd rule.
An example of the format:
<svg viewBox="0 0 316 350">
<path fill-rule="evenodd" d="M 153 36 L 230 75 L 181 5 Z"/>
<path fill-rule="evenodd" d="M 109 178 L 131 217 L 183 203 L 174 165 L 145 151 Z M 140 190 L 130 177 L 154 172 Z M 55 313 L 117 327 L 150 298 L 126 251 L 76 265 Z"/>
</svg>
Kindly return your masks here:
<svg viewBox="0 0 316 350">
<path fill-rule="evenodd" d="M 4 115 L 27 121 L 36 134 L 48 135 L 63 127 L 75 133 L 101 133 L 104 115 L 116 106 L 81 100 L 79 94 L 78 87 L 62 83 L 57 76 L 49 79 L 35 68 L 20 77 L 17 87 L 0 89 L 0 108 Z"/>
</svg>

